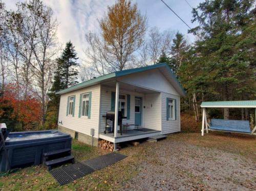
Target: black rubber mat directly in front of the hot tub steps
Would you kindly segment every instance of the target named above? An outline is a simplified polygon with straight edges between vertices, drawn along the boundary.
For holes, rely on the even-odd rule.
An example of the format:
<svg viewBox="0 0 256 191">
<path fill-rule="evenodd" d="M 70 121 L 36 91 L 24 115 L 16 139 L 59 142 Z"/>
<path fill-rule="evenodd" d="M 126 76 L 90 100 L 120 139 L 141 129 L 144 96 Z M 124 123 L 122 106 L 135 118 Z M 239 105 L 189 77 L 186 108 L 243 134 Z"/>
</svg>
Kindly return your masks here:
<svg viewBox="0 0 256 191">
<path fill-rule="evenodd" d="M 94 170 L 86 164 L 75 163 L 49 172 L 60 185 L 63 185 L 84 177 L 94 172 Z"/>
</svg>

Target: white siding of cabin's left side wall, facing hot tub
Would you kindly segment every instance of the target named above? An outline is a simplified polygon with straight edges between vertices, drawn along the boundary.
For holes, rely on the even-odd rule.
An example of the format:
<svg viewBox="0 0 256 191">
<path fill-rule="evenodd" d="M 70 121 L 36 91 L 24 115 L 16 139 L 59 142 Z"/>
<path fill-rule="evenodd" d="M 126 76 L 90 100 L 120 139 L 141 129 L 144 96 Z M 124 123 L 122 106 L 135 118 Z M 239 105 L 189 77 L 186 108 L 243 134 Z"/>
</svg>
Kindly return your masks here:
<svg viewBox="0 0 256 191">
<path fill-rule="evenodd" d="M 91 118 L 78 117 L 79 112 L 79 98 L 80 94 L 84 92 L 92 92 L 92 102 L 91 102 Z M 67 100 L 69 96 L 76 96 L 75 101 L 75 114 L 66 115 L 67 112 Z M 80 90 L 72 91 L 69 93 L 62 94 L 60 97 L 59 106 L 59 118 L 58 122 L 62 121 L 62 125 L 65 128 L 71 129 L 76 132 L 80 132 L 86 135 L 91 134 L 91 128 L 95 130 L 95 137 L 98 138 L 99 129 L 99 100 L 100 100 L 100 85 L 91 86 L 88 88 L 83 88 Z"/>
</svg>

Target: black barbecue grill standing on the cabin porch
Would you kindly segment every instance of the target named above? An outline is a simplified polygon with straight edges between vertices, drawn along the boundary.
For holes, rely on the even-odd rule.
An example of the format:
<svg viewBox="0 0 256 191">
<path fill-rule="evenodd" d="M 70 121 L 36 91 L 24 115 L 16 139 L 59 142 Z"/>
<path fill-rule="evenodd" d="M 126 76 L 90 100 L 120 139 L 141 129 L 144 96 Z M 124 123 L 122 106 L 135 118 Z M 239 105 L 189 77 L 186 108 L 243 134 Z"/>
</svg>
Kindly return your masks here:
<svg viewBox="0 0 256 191">
<path fill-rule="evenodd" d="M 102 115 L 102 117 L 106 117 L 106 124 L 105 124 L 104 134 L 114 133 L 114 131 L 115 131 L 115 111 L 107 111 L 106 115 Z M 118 111 L 118 122 L 117 122 L 117 124 L 120 127 L 120 134 L 121 135 L 122 135 L 122 119 L 123 118 L 127 118 L 127 117 L 124 117 L 122 112 Z M 112 121 L 112 129 L 111 129 L 111 127 L 110 128 L 107 127 L 108 120 Z"/>
</svg>

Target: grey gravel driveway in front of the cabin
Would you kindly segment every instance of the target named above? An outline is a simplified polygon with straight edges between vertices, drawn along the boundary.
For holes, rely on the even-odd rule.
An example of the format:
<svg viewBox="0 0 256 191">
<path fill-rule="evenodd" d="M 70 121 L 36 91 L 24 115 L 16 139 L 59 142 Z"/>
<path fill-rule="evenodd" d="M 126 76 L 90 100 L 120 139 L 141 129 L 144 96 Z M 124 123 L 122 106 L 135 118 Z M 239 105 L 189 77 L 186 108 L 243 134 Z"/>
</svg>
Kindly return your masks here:
<svg viewBox="0 0 256 191">
<path fill-rule="evenodd" d="M 169 138 L 148 144 L 152 155 L 125 190 L 256 190 L 256 165 L 249 158 Z"/>
</svg>

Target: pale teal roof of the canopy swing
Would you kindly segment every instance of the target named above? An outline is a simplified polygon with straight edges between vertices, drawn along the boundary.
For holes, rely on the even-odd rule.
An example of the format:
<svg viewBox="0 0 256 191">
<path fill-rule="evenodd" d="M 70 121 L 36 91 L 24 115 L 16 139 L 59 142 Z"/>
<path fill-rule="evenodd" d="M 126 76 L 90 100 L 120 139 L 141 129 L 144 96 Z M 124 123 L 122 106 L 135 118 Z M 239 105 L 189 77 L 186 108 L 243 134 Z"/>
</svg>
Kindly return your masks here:
<svg viewBox="0 0 256 191">
<path fill-rule="evenodd" d="M 247 101 L 221 101 L 221 102 L 202 102 L 201 107 L 234 107 L 234 108 L 256 108 L 256 100 Z"/>
</svg>

